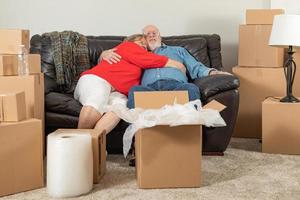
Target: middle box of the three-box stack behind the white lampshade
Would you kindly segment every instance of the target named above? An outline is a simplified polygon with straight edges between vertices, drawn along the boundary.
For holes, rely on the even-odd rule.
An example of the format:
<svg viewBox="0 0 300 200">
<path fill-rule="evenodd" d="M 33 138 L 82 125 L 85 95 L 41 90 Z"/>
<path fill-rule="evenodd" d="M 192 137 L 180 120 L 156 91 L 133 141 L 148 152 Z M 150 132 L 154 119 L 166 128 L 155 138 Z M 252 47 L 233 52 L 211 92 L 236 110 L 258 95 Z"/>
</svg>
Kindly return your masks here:
<svg viewBox="0 0 300 200">
<path fill-rule="evenodd" d="M 238 65 L 282 67 L 284 49 L 269 46 L 272 25 L 240 25 Z"/>
</svg>

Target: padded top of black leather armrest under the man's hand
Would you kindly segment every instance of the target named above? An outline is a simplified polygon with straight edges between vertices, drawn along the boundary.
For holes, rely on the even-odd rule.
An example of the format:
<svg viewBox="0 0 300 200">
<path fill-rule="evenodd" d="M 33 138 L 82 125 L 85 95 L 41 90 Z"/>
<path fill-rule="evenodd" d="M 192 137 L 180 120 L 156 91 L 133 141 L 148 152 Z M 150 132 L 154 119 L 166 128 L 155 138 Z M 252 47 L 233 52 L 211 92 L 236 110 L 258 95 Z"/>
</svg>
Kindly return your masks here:
<svg viewBox="0 0 300 200">
<path fill-rule="evenodd" d="M 223 74 L 197 78 L 193 83 L 199 87 L 201 99 L 204 101 L 218 93 L 237 89 L 240 85 L 236 76 Z"/>
</svg>

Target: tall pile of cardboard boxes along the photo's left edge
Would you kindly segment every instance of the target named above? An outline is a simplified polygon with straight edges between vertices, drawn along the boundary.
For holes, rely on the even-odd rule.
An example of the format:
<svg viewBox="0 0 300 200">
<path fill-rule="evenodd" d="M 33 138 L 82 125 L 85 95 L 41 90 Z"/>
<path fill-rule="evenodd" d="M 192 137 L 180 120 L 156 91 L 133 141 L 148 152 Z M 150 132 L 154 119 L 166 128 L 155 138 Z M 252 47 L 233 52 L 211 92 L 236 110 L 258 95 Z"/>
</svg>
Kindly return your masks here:
<svg viewBox="0 0 300 200">
<path fill-rule="evenodd" d="M 44 186 L 44 77 L 40 55 L 18 76 L 20 45 L 29 31 L 0 29 L 0 196 Z"/>
</svg>

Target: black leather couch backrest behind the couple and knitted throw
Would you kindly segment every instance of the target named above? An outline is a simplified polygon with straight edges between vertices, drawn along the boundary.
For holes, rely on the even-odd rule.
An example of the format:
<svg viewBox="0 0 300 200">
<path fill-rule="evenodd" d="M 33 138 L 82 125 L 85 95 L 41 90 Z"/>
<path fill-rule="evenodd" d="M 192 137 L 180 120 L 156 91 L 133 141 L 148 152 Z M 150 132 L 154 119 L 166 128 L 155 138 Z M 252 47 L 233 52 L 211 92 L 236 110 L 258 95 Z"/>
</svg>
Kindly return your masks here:
<svg viewBox="0 0 300 200">
<path fill-rule="evenodd" d="M 95 66 L 101 52 L 120 44 L 124 36 L 87 36 L 87 38 L 90 63 L 91 66 Z M 220 36 L 217 34 L 169 36 L 163 37 L 163 42 L 167 45 L 186 48 L 191 55 L 208 67 L 219 70 L 223 68 Z M 42 71 L 55 79 L 50 38 L 34 35 L 30 40 L 30 52 L 41 54 Z"/>
</svg>

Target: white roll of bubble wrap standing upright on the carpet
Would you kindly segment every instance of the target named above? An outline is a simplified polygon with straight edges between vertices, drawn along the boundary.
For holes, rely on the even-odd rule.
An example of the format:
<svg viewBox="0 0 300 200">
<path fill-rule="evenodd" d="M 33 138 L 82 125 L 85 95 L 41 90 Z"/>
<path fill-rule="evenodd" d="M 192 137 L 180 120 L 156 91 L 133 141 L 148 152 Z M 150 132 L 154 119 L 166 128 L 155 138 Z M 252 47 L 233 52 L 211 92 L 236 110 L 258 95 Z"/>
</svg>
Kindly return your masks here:
<svg viewBox="0 0 300 200">
<path fill-rule="evenodd" d="M 47 191 L 52 197 L 74 197 L 93 188 L 92 138 L 89 134 L 48 135 Z"/>
</svg>

